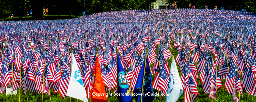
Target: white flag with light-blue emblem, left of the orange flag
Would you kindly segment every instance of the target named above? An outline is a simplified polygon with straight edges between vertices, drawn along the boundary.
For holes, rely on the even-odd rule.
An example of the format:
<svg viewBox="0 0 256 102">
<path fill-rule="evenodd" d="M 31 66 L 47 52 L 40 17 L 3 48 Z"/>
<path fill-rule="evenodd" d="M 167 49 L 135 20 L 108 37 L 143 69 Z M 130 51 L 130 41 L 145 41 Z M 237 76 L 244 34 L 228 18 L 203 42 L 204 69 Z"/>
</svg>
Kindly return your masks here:
<svg viewBox="0 0 256 102">
<path fill-rule="evenodd" d="M 71 54 L 71 56 L 72 56 L 71 76 L 69 79 L 67 96 L 80 99 L 84 102 L 88 102 L 83 80 L 81 77 L 80 70 L 78 69 L 76 59 L 73 54 Z"/>
</svg>

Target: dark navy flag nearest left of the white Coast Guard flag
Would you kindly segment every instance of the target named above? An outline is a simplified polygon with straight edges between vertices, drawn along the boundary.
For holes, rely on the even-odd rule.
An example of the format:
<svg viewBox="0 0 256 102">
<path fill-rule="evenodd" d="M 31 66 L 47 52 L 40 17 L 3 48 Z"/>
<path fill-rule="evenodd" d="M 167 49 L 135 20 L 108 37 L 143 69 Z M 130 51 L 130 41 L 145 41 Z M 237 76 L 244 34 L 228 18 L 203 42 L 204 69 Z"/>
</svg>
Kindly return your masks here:
<svg viewBox="0 0 256 102">
<path fill-rule="evenodd" d="M 144 84 L 143 84 L 142 102 L 152 102 L 155 99 L 155 96 L 154 96 L 153 88 L 152 88 L 152 77 L 150 74 L 150 66 L 148 63 L 148 56 L 145 57 L 145 60 L 141 66 L 140 74 L 138 76 L 138 79 L 137 79 L 137 82 L 135 84 L 134 91 L 133 91 L 134 94 L 138 93 L 138 95 L 134 95 L 134 98 L 135 98 L 136 102 L 141 102 L 141 93 L 142 93 L 141 91 L 142 91 L 144 67 L 145 67 L 145 76 L 144 76 Z"/>
</svg>

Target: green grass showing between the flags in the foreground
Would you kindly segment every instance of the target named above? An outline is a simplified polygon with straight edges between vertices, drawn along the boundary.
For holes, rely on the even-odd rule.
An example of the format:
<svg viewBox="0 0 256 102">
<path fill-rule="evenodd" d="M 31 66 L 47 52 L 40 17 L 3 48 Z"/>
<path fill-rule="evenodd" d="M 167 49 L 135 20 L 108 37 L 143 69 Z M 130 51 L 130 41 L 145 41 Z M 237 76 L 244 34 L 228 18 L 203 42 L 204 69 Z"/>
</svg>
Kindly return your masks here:
<svg viewBox="0 0 256 102">
<path fill-rule="evenodd" d="M 171 43 L 171 46 L 173 46 L 173 42 Z M 156 48 L 156 50 L 157 50 L 157 48 Z M 176 48 L 174 48 L 173 50 L 174 50 L 174 58 L 175 58 L 178 52 L 177 52 Z M 173 52 L 173 50 L 170 49 L 171 52 Z M 213 57 L 213 55 L 212 55 L 212 57 Z M 168 59 L 169 69 L 171 67 L 171 63 L 172 63 L 172 59 Z M 154 63 L 152 65 L 150 65 L 152 70 L 153 70 L 153 65 L 154 65 Z M 196 63 L 195 63 L 195 65 L 196 65 Z M 180 71 L 179 66 L 177 66 L 177 67 L 178 67 L 178 70 Z M 181 76 L 182 73 L 179 72 L 179 74 Z M 199 75 L 200 75 L 200 73 L 198 73 L 198 76 Z M 152 76 L 152 81 L 154 80 L 155 76 L 156 75 Z M 217 102 L 234 102 L 232 95 L 228 96 L 228 93 L 225 89 L 223 81 L 225 81 L 225 80 L 221 80 L 222 88 L 217 92 Z M 202 87 L 202 83 L 201 83 L 200 79 L 197 79 L 197 83 L 199 85 L 197 87 L 197 90 L 199 92 L 199 96 L 196 98 L 195 102 L 215 102 L 214 99 L 209 98 L 209 94 L 205 94 L 203 92 L 203 87 Z M 112 91 L 113 91 L 113 89 L 111 90 L 111 92 Z M 156 93 L 156 92 L 158 93 L 158 91 L 156 89 L 154 89 L 153 91 L 154 91 L 154 93 Z M 62 99 L 60 97 L 59 93 L 53 93 L 52 90 L 50 92 L 52 94 L 51 99 L 48 95 L 44 94 L 44 102 L 69 102 L 70 97 Z M 17 91 L 17 93 L 19 93 L 19 90 Z M 239 98 L 238 94 L 236 96 L 237 96 L 237 98 Z M 166 96 L 164 96 L 164 99 L 162 100 L 163 102 L 165 102 L 165 98 L 166 98 Z M 256 100 L 256 98 L 254 96 L 245 93 L 245 91 L 243 91 L 243 97 L 240 96 L 240 98 L 241 98 L 241 102 L 255 102 L 255 100 Z M 252 98 L 253 98 L 253 101 L 252 101 Z M 11 102 L 11 101 L 16 102 L 18 100 L 19 100 L 19 94 L 13 95 L 12 97 L 10 95 L 5 96 L 5 93 L 0 94 L 0 102 Z M 21 89 L 20 100 L 21 100 L 21 102 L 27 102 L 27 94 L 24 94 L 22 89 Z M 28 101 L 29 102 L 42 102 L 42 94 L 39 94 L 39 93 L 36 93 L 36 92 L 31 93 L 30 91 L 28 91 Z M 91 100 L 89 98 L 88 98 L 88 101 L 91 102 Z M 109 102 L 116 102 L 116 96 L 108 96 L 108 101 Z M 71 102 L 82 102 L 82 101 L 77 100 L 75 98 L 71 98 Z M 132 102 L 136 102 L 134 100 L 134 97 L 132 97 Z M 161 102 L 160 96 L 156 96 L 155 100 L 153 102 Z M 184 102 L 184 92 L 180 96 L 180 98 L 177 100 L 177 102 Z"/>
</svg>

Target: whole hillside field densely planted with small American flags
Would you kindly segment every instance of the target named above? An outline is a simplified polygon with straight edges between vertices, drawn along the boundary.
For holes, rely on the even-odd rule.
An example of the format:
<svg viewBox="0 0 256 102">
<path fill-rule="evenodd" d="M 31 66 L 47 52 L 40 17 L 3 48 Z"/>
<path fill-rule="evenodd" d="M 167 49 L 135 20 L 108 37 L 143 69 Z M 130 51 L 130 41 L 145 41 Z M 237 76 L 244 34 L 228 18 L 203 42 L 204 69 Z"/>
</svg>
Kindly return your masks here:
<svg viewBox="0 0 256 102">
<path fill-rule="evenodd" d="M 0 22 L 0 93 L 12 83 L 21 96 L 60 101 L 253 101 L 255 29 L 254 13 L 201 9 Z"/>
</svg>

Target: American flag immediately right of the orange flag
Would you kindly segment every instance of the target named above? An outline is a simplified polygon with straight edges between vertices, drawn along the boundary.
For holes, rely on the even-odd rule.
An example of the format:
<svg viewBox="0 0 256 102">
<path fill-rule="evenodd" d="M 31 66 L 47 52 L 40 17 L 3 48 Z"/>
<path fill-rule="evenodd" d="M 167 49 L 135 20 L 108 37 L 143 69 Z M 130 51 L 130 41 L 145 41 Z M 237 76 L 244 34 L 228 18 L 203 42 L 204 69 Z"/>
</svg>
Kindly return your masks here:
<svg viewBox="0 0 256 102">
<path fill-rule="evenodd" d="M 103 64 L 101 64 L 100 69 L 101 69 L 101 75 L 103 78 L 103 83 L 108 87 L 108 90 L 110 90 L 112 86 L 112 82 L 111 82 L 111 77 L 108 74 L 108 70 L 105 68 Z"/>
</svg>

